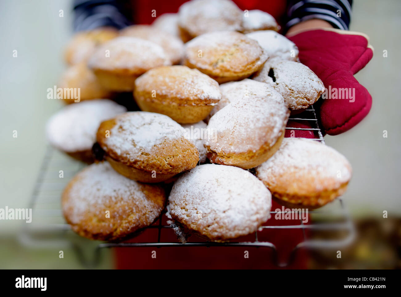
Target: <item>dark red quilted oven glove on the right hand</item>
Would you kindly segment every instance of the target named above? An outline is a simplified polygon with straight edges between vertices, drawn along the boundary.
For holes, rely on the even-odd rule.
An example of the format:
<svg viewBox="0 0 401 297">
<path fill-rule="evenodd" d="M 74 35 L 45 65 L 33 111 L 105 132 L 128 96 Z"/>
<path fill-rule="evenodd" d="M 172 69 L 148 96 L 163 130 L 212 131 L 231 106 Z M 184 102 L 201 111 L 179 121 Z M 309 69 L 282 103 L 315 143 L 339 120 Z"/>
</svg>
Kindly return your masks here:
<svg viewBox="0 0 401 297">
<path fill-rule="evenodd" d="M 328 89 L 316 104 L 320 105 L 317 111 L 322 129 L 327 134 L 337 135 L 354 127 L 372 106 L 372 96 L 354 78 L 373 56 L 368 37 L 338 29 L 318 29 L 288 39 L 298 46 L 301 63 Z"/>
</svg>

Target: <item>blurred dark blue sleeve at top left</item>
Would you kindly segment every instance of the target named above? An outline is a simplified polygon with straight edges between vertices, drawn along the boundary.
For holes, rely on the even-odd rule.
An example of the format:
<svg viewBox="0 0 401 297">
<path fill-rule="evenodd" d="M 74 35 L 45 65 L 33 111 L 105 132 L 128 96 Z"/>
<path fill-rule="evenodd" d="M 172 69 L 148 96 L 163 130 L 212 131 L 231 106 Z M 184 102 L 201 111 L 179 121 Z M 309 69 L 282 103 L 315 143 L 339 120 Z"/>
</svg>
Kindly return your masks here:
<svg viewBox="0 0 401 297">
<path fill-rule="evenodd" d="M 75 0 L 74 31 L 99 27 L 122 29 L 130 25 L 124 15 L 124 4 L 118 0 Z"/>
</svg>

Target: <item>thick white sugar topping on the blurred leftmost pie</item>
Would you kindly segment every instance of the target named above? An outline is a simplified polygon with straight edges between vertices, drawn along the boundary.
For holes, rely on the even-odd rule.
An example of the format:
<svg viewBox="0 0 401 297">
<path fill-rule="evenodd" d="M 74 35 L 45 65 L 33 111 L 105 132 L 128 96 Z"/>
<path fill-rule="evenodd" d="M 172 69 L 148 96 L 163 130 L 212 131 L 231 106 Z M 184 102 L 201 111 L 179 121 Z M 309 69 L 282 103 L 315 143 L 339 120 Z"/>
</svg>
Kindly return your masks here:
<svg viewBox="0 0 401 297">
<path fill-rule="evenodd" d="M 96 142 L 100 123 L 126 111 L 122 105 L 107 99 L 70 104 L 47 122 L 47 139 L 64 152 L 90 150 Z"/>
</svg>

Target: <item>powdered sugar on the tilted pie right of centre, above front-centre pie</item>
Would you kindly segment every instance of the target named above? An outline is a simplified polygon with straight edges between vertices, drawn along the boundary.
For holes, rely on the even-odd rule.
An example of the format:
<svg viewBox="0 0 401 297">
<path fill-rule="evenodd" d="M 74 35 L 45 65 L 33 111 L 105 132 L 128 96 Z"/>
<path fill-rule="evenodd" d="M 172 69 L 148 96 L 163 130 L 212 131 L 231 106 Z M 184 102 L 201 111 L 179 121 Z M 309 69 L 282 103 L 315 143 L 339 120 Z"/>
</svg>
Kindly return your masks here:
<svg viewBox="0 0 401 297">
<path fill-rule="evenodd" d="M 217 154 L 256 152 L 266 143 L 274 145 L 282 135 L 290 111 L 284 102 L 267 97 L 244 95 L 211 117 L 208 129 L 217 139 L 205 143 Z"/>
</svg>

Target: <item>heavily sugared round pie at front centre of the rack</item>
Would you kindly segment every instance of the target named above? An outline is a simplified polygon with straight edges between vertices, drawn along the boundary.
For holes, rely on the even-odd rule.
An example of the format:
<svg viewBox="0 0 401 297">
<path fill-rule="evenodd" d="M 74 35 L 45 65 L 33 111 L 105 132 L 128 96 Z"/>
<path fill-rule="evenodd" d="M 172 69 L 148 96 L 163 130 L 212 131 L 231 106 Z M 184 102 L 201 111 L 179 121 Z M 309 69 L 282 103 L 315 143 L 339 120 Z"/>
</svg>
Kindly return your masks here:
<svg viewBox="0 0 401 297">
<path fill-rule="evenodd" d="M 214 241 L 254 232 L 270 217 L 269 190 L 233 166 L 196 166 L 178 178 L 168 200 L 173 219 Z"/>
</svg>

